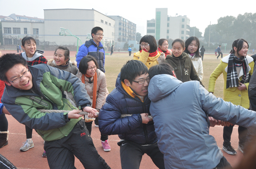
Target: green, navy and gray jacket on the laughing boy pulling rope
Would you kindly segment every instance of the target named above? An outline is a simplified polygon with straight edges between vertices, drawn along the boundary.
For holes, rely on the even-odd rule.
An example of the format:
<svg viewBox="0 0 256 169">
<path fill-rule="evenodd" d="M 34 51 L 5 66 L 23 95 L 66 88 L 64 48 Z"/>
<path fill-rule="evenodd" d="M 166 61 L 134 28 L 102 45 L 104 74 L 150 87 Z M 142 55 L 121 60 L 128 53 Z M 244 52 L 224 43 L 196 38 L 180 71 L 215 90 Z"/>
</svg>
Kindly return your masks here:
<svg viewBox="0 0 256 169">
<path fill-rule="evenodd" d="M 90 106 L 90 97 L 84 84 L 72 73 L 45 64 L 28 66 L 28 68 L 36 91 L 6 86 L 2 103 L 18 122 L 36 129 L 45 141 L 59 140 L 68 136 L 81 118 L 69 120 L 66 116 L 68 112 L 42 113 L 37 109 L 77 109 L 65 98 L 63 91 L 73 94 L 79 109 Z"/>
</svg>

